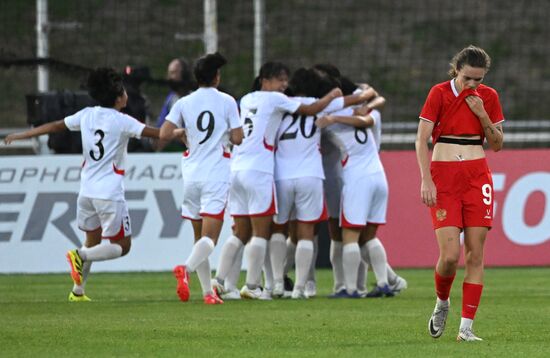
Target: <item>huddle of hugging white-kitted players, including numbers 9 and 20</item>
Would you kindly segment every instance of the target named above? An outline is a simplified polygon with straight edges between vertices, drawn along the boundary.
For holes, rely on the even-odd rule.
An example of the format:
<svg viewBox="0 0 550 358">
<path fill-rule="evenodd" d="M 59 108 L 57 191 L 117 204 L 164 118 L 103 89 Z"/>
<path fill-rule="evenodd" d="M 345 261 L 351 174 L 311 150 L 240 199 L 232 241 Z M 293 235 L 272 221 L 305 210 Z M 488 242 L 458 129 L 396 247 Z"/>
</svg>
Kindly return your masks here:
<svg viewBox="0 0 550 358">
<path fill-rule="evenodd" d="M 384 104 L 383 98 L 372 87 L 342 78 L 329 65 L 297 70 L 289 86 L 288 68 L 268 62 L 253 92 L 241 99 L 239 117 L 235 100 L 216 90 L 224 64 L 218 53 L 197 62 L 199 89 L 176 102 L 160 130 L 161 140 L 182 136 L 188 148 L 182 159 L 182 216 L 192 221 L 196 242 L 185 265 L 174 269 L 180 299 L 189 299 L 189 273 L 194 271 L 207 304 L 282 297 L 287 261 L 296 265 L 290 296 L 314 295 L 314 281 L 309 280 L 309 292 L 306 283 L 314 270 L 315 224 L 328 214 L 333 222 L 332 297 L 366 294 L 358 290 L 358 277 L 363 281 L 359 287 L 365 285 L 364 274 L 359 275 L 362 260 L 373 266 L 378 283 L 368 297 L 393 296 L 405 288 L 375 238 L 377 226 L 385 223 L 388 196 L 379 138 L 371 129 L 380 127 L 375 108 Z M 232 151 L 229 142 L 235 146 Z M 330 185 L 323 183 L 327 169 L 321 152 L 326 150 L 337 152 L 324 156 L 335 161 L 325 165 L 331 168 Z M 325 192 L 336 192 L 328 206 Z M 226 202 L 233 235 L 211 280 L 208 257 L 221 232 Z M 295 257 L 287 251 L 295 251 Z M 238 292 L 238 275 L 232 273 L 239 272 L 243 255 L 246 284 Z"/>
</svg>

